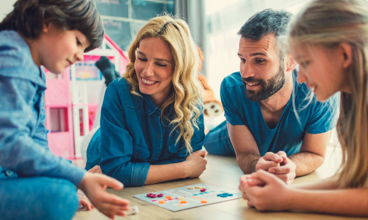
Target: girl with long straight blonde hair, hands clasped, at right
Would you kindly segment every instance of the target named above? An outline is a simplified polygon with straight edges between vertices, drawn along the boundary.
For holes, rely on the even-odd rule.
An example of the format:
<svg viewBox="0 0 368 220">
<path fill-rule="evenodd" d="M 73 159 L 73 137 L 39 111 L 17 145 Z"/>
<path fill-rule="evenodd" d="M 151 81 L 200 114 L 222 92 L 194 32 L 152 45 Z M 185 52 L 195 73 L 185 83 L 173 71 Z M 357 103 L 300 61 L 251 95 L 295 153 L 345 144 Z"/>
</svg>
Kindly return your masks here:
<svg viewBox="0 0 368 220">
<path fill-rule="evenodd" d="M 368 2 L 312 1 L 291 22 L 289 44 L 300 64 L 298 81 L 318 100 L 341 92 L 342 164 L 329 179 L 297 186 L 258 170 L 241 177 L 243 197 L 259 210 L 368 216 Z"/>
</svg>

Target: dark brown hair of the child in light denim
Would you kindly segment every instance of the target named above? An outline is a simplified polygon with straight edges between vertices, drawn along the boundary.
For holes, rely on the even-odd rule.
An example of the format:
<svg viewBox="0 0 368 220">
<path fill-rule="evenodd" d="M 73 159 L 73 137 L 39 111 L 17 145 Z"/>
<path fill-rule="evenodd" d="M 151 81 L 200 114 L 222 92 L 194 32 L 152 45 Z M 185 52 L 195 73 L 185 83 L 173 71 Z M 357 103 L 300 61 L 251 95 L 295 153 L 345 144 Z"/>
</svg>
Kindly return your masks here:
<svg viewBox="0 0 368 220">
<path fill-rule="evenodd" d="M 102 44 L 103 23 L 91 0 L 18 0 L 0 23 L 0 30 L 14 30 L 25 38 L 37 39 L 48 23 L 82 32 L 90 43 L 85 52 Z"/>
</svg>

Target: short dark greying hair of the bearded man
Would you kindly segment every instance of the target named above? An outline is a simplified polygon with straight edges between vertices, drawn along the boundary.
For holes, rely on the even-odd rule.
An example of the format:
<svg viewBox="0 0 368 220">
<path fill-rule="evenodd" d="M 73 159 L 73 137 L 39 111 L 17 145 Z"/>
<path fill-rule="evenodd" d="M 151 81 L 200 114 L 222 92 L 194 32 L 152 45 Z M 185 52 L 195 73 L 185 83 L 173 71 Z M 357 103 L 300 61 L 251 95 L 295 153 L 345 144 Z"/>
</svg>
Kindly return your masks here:
<svg viewBox="0 0 368 220">
<path fill-rule="evenodd" d="M 254 41 L 259 41 L 270 33 L 275 34 L 277 38 L 278 36 L 286 34 L 287 23 L 289 23 L 292 16 L 293 14 L 286 10 L 273 10 L 268 8 L 257 12 L 248 19 L 248 21 L 241 26 L 238 34 Z M 282 48 L 286 47 L 279 45 L 279 55 L 283 57 L 287 51 L 284 51 Z"/>
</svg>

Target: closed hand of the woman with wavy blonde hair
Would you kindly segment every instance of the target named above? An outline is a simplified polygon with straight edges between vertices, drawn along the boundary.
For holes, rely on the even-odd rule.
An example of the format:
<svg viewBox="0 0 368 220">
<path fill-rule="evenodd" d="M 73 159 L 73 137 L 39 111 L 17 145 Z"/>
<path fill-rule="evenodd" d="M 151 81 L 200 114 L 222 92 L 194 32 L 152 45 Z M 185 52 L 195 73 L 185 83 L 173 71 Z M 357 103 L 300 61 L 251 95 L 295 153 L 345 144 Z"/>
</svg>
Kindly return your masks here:
<svg viewBox="0 0 368 220">
<path fill-rule="evenodd" d="M 206 151 L 197 150 L 185 158 L 184 172 L 186 177 L 196 178 L 206 169 Z"/>
</svg>

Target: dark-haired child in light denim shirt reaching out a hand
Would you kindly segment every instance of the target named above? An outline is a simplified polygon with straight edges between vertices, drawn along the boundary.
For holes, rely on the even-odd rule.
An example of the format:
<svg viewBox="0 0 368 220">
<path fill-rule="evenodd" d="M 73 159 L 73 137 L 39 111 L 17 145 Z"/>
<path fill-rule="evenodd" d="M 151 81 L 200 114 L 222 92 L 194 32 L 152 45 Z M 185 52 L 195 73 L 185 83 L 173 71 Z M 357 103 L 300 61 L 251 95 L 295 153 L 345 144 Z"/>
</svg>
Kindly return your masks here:
<svg viewBox="0 0 368 220">
<path fill-rule="evenodd" d="M 0 23 L 1 219 L 71 219 L 76 186 L 110 218 L 128 209 L 128 201 L 105 191 L 120 190 L 120 182 L 55 157 L 46 140 L 41 66 L 60 74 L 103 35 L 90 0 L 18 0 Z"/>
</svg>

